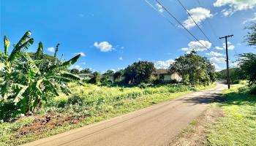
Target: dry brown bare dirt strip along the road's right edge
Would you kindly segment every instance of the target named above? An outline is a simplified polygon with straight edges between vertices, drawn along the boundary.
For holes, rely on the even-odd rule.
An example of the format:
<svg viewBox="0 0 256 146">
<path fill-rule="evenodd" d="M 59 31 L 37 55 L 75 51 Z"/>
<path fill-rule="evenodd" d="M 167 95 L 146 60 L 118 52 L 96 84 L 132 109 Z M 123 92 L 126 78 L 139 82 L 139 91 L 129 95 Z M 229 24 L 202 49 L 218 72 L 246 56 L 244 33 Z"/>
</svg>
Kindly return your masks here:
<svg viewBox="0 0 256 146">
<path fill-rule="evenodd" d="M 206 139 L 207 128 L 214 124 L 218 118 L 223 116 L 224 112 L 221 109 L 209 107 L 202 115 L 193 120 L 169 145 L 204 145 L 203 142 Z"/>
</svg>

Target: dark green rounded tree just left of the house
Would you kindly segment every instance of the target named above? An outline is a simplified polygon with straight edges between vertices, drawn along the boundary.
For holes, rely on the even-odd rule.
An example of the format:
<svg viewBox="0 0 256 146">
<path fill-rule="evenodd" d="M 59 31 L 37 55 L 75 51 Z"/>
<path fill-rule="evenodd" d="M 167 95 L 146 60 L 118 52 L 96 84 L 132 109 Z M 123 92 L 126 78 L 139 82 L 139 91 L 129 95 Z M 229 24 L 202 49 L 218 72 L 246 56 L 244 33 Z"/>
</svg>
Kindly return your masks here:
<svg viewBox="0 0 256 146">
<path fill-rule="evenodd" d="M 138 61 L 124 69 L 124 77 L 127 82 L 140 84 L 149 82 L 152 73 L 155 71 L 154 63 Z"/>
</svg>

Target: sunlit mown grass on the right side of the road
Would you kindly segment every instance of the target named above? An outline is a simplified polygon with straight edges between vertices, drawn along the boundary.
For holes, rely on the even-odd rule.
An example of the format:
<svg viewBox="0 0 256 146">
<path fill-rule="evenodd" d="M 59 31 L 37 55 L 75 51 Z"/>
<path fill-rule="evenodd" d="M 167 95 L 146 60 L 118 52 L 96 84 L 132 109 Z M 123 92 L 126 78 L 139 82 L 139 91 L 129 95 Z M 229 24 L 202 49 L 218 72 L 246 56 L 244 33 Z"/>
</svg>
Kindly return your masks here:
<svg viewBox="0 0 256 146">
<path fill-rule="evenodd" d="M 241 93 L 241 86 L 224 91 L 214 104 L 225 116 L 208 130 L 206 145 L 256 145 L 256 96 Z"/>
</svg>

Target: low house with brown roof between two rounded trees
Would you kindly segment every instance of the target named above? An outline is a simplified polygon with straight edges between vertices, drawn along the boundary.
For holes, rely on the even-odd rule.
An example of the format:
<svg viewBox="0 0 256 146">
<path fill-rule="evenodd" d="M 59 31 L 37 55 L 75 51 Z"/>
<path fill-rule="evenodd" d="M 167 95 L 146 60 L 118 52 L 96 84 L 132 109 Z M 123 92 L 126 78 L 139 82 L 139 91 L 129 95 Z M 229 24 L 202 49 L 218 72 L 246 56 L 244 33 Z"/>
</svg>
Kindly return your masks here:
<svg viewBox="0 0 256 146">
<path fill-rule="evenodd" d="M 171 74 L 168 69 L 157 69 L 156 72 L 154 72 L 154 75 L 158 76 L 159 79 L 162 79 L 164 82 L 170 82 L 172 80 L 177 80 L 178 82 L 181 82 L 182 78 L 179 74 L 173 73 Z"/>
</svg>

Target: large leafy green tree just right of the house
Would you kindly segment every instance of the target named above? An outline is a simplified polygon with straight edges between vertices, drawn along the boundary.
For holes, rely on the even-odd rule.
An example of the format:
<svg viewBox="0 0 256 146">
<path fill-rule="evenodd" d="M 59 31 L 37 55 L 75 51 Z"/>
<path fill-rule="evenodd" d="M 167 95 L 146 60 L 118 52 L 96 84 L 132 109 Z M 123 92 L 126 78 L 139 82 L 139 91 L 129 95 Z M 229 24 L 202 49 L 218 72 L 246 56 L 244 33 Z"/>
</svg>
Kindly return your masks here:
<svg viewBox="0 0 256 146">
<path fill-rule="evenodd" d="M 203 58 L 193 50 L 189 54 L 181 55 L 170 65 L 170 73 L 178 73 L 185 84 L 208 85 L 214 82 L 215 68 L 207 58 Z"/>
</svg>

